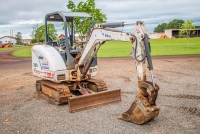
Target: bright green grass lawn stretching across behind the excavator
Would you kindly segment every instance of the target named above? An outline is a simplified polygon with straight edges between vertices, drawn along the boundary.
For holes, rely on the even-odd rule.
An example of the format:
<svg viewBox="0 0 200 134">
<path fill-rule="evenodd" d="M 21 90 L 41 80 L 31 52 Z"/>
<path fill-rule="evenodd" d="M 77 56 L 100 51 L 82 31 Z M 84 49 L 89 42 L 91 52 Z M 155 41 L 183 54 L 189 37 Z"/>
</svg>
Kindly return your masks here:
<svg viewBox="0 0 200 134">
<path fill-rule="evenodd" d="M 178 56 L 200 54 L 200 38 L 151 39 L 152 56 Z M 129 57 L 130 42 L 109 41 L 101 46 L 99 58 Z M 31 47 L 13 52 L 16 57 L 31 57 Z"/>
</svg>

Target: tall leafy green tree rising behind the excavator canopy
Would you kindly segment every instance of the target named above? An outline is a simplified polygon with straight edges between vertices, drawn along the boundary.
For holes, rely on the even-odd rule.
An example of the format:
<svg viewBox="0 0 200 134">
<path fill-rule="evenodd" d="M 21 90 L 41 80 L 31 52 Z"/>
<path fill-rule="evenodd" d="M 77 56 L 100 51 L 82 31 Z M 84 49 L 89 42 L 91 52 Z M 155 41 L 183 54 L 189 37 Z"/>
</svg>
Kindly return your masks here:
<svg viewBox="0 0 200 134">
<path fill-rule="evenodd" d="M 86 0 L 77 5 L 72 0 L 68 1 L 67 8 L 72 12 L 86 12 L 94 18 L 94 23 L 105 23 L 106 15 L 101 12 L 101 9 L 95 7 L 95 0 Z M 74 18 L 75 33 L 79 35 L 81 40 L 91 28 L 91 20 L 83 18 Z"/>
</svg>

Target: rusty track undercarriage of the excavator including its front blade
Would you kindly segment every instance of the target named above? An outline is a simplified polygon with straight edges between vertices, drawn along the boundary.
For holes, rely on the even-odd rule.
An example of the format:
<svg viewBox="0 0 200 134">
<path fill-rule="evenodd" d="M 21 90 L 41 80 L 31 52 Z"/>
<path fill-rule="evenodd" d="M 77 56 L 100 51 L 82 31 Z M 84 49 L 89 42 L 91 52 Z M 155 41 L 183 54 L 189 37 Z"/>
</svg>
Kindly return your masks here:
<svg viewBox="0 0 200 134">
<path fill-rule="evenodd" d="M 56 105 L 68 103 L 70 112 L 121 100 L 120 89 L 108 91 L 106 83 L 97 79 L 62 83 L 38 80 L 36 91 L 53 99 Z"/>
</svg>

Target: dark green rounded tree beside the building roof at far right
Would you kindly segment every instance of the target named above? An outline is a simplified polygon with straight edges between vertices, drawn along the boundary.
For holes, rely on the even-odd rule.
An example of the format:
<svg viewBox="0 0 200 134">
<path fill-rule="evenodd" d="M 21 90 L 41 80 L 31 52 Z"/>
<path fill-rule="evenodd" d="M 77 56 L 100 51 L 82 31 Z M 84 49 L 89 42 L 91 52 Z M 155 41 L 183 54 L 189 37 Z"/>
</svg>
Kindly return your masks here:
<svg viewBox="0 0 200 134">
<path fill-rule="evenodd" d="M 159 24 L 157 27 L 154 28 L 154 32 L 157 33 L 164 32 L 165 29 L 180 29 L 183 23 L 184 23 L 183 20 L 174 19 L 169 23 Z"/>
</svg>

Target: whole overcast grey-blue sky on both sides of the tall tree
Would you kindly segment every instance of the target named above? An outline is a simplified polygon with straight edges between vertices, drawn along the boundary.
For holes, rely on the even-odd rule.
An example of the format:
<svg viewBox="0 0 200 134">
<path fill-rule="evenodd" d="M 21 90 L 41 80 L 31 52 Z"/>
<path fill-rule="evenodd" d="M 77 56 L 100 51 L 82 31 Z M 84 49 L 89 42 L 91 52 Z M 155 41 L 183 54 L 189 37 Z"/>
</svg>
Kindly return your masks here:
<svg viewBox="0 0 200 134">
<path fill-rule="evenodd" d="M 22 32 L 24 39 L 31 38 L 34 25 L 43 24 L 47 13 L 69 11 L 67 3 L 68 0 L 1 1 L 0 37 L 9 36 L 13 30 L 13 36 Z M 96 7 L 107 15 L 107 22 L 144 21 L 149 32 L 173 19 L 190 19 L 200 25 L 200 0 L 96 0 Z"/>
</svg>

